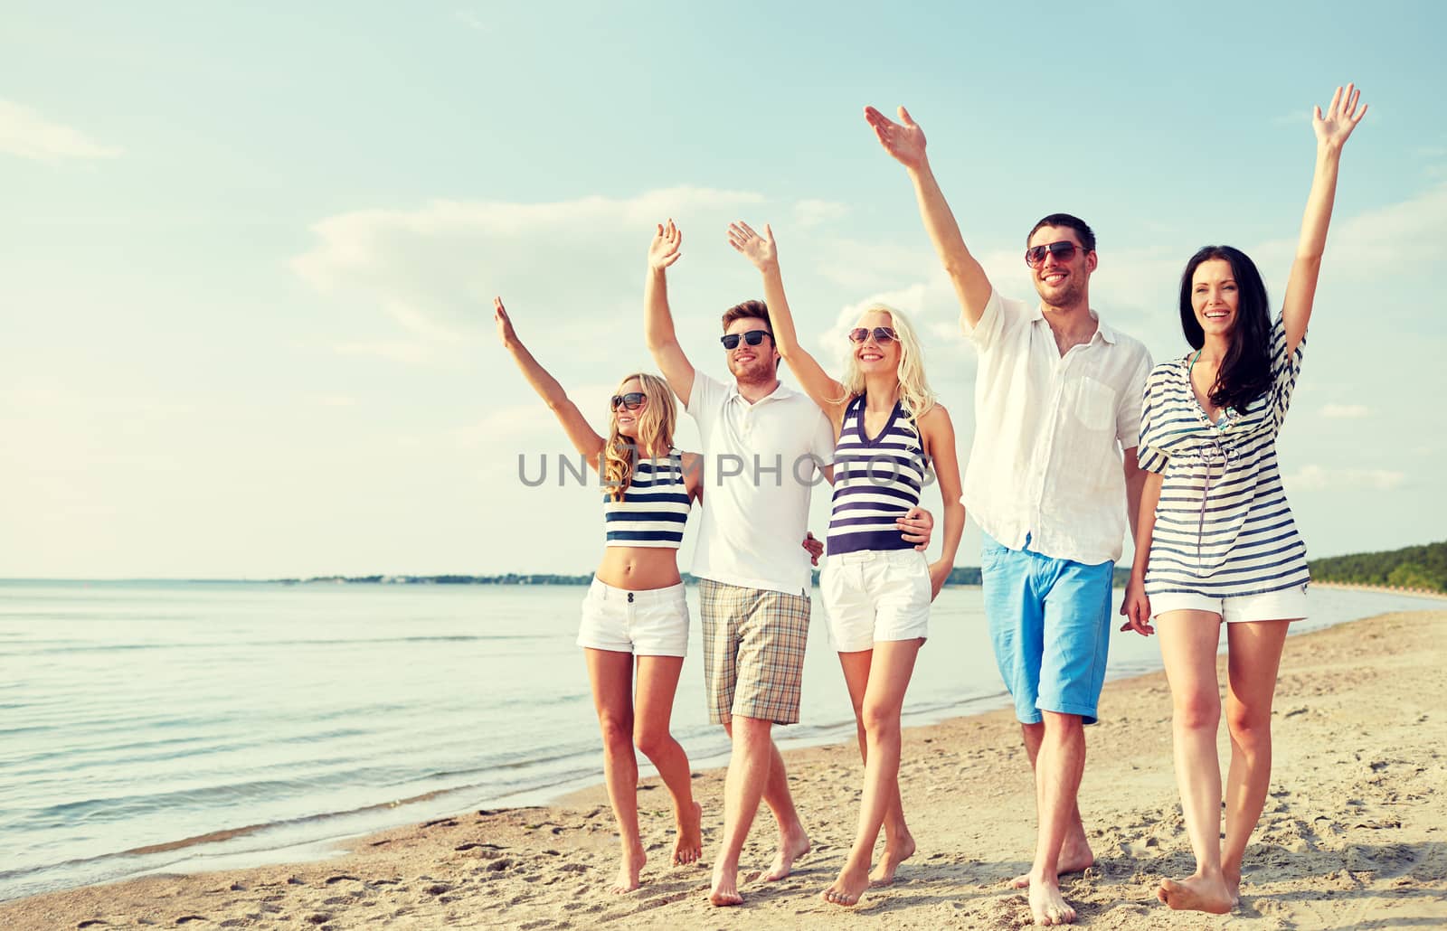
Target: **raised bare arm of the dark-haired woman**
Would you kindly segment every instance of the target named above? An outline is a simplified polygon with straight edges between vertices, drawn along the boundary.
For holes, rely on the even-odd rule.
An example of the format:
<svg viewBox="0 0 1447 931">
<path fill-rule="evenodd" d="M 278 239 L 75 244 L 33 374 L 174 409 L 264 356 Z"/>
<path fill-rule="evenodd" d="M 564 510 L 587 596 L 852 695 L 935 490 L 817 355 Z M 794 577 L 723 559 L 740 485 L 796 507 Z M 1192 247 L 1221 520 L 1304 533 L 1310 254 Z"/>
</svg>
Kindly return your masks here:
<svg viewBox="0 0 1447 931">
<path fill-rule="evenodd" d="M 1338 87 L 1327 106 L 1311 117 L 1311 129 L 1317 133 L 1317 168 L 1311 175 L 1311 194 L 1307 195 L 1307 213 L 1301 218 L 1301 239 L 1297 243 L 1297 259 L 1291 263 L 1291 279 L 1286 282 L 1286 299 L 1281 308 L 1286 327 L 1286 357 L 1297 351 L 1297 344 L 1307 335 L 1311 321 L 1311 305 L 1317 296 L 1317 276 L 1321 275 L 1321 254 L 1327 249 L 1327 227 L 1331 226 L 1331 207 L 1337 198 L 1337 169 L 1341 165 L 1341 146 L 1351 130 L 1366 116 L 1366 104 L 1357 110 L 1362 91 L 1347 84 L 1346 93 Z"/>
</svg>

